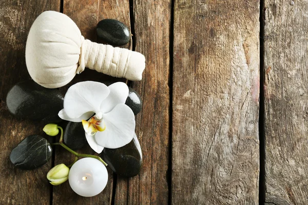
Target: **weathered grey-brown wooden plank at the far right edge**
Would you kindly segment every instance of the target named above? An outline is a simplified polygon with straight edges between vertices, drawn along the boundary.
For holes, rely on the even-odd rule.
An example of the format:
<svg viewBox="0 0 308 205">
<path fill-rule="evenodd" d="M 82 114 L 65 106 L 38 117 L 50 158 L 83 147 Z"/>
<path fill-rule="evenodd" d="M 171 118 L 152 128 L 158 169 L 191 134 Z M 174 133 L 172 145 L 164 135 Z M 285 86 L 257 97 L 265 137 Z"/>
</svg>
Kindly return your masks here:
<svg viewBox="0 0 308 205">
<path fill-rule="evenodd" d="M 308 204 L 308 1 L 264 5 L 265 201 Z"/>
</svg>

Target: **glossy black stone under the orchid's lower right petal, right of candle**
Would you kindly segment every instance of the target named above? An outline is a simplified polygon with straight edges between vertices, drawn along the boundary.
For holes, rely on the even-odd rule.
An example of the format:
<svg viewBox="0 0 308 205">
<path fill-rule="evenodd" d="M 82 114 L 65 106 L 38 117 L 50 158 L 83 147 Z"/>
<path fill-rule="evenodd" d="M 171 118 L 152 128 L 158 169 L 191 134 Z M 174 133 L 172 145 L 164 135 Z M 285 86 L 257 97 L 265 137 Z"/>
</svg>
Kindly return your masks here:
<svg viewBox="0 0 308 205">
<path fill-rule="evenodd" d="M 132 177 L 140 173 L 142 152 L 137 136 L 129 144 L 118 148 L 104 148 L 101 157 L 110 169 L 122 177 Z"/>
</svg>

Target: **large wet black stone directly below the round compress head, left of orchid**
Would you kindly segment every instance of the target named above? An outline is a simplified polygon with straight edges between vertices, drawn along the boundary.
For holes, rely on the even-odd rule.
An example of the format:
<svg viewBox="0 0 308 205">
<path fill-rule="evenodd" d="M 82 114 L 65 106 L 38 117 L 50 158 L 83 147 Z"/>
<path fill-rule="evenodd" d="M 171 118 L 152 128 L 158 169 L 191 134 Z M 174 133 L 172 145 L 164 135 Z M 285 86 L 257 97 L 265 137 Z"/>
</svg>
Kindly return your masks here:
<svg viewBox="0 0 308 205">
<path fill-rule="evenodd" d="M 60 122 L 63 96 L 57 89 L 48 89 L 33 80 L 16 84 L 8 92 L 6 103 L 9 111 L 17 117 L 42 120 L 46 123 Z"/>
</svg>

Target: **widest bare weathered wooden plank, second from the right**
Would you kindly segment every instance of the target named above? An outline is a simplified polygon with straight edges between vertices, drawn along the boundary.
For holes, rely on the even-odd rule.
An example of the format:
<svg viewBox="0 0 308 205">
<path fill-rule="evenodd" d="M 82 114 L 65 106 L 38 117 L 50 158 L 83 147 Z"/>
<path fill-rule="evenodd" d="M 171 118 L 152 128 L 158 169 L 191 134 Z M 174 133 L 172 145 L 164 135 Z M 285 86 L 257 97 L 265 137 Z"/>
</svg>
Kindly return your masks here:
<svg viewBox="0 0 308 205">
<path fill-rule="evenodd" d="M 258 204 L 259 1 L 176 1 L 172 203 Z"/>
</svg>

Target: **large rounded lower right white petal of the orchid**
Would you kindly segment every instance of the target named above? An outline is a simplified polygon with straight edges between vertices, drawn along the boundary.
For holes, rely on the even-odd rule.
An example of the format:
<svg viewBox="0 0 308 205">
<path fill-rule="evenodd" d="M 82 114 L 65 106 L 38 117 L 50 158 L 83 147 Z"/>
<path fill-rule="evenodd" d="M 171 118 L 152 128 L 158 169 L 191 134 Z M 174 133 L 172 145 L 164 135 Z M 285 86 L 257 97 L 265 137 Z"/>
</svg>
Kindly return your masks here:
<svg viewBox="0 0 308 205">
<path fill-rule="evenodd" d="M 109 113 L 103 114 L 106 130 L 97 132 L 95 140 L 105 148 L 120 148 L 127 145 L 134 136 L 136 122 L 132 110 L 125 104 L 118 104 Z"/>
</svg>

